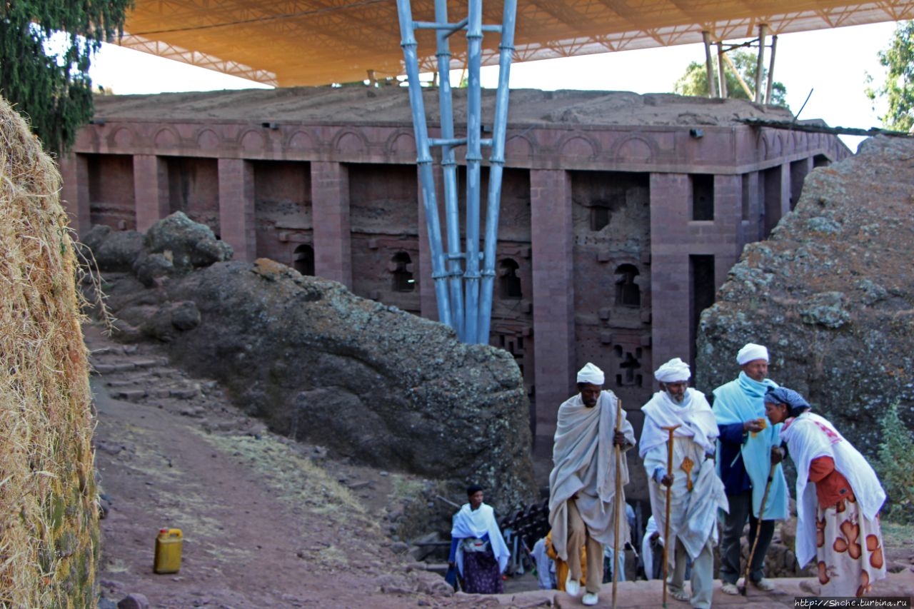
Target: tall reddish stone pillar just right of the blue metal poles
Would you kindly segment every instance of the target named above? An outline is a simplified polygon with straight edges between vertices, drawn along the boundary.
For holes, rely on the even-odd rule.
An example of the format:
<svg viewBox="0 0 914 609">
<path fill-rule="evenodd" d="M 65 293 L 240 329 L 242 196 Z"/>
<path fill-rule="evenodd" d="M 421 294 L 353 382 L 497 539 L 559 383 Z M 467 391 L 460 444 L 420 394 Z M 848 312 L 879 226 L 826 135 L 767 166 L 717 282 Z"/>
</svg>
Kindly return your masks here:
<svg viewBox="0 0 914 609">
<path fill-rule="evenodd" d="M 564 170 L 530 171 L 534 378 L 537 436 L 556 429 L 558 406 L 574 393 L 574 229 L 571 178 Z"/>
</svg>

